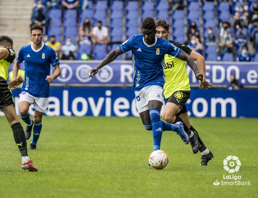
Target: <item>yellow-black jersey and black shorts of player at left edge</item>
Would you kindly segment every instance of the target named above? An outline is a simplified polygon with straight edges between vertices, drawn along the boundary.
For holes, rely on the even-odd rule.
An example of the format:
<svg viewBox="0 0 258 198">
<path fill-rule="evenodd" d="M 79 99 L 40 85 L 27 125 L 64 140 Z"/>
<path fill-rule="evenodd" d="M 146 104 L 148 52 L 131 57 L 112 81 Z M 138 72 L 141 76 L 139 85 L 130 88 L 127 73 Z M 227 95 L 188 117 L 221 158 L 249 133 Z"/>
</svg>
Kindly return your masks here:
<svg viewBox="0 0 258 198">
<path fill-rule="evenodd" d="M 0 47 L 0 50 L 4 47 Z M 13 96 L 7 84 L 8 68 L 15 59 L 13 49 L 6 47 L 9 50 L 9 56 L 6 59 L 0 60 L 0 109 L 10 104 L 14 105 Z"/>
</svg>

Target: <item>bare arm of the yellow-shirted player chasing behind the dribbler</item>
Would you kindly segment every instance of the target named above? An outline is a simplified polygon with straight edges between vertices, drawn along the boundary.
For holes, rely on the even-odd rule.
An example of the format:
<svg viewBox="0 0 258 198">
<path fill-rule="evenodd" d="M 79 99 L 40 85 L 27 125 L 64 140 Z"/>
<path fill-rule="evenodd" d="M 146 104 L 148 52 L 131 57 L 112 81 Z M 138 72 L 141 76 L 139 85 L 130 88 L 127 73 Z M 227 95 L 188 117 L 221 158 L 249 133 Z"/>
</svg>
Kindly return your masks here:
<svg viewBox="0 0 258 198">
<path fill-rule="evenodd" d="M 211 86 L 213 84 L 209 83 L 206 79 L 205 79 L 205 76 L 206 76 L 206 67 L 205 67 L 205 59 L 204 57 L 199 54 L 198 52 L 192 50 L 191 53 L 190 53 L 190 57 L 197 61 L 197 65 L 198 65 L 198 68 L 200 70 L 200 73 L 203 75 L 203 79 L 202 81 L 200 82 L 200 89 L 202 87 L 204 87 L 204 89 L 208 89 L 208 88 L 211 88 Z"/>
</svg>

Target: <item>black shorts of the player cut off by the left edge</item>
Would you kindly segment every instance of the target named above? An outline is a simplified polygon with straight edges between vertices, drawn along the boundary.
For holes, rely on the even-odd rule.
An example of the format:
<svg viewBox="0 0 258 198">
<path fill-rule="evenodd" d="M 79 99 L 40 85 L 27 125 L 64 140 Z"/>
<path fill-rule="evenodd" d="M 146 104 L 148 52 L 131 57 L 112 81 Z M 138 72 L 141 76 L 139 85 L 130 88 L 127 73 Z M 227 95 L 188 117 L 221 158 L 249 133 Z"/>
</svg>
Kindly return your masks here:
<svg viewBox="0 0 258 198">
<path fill-rule="evenodd" d="M 14 105 L 14 100 L 5 79 L 0 77 L 0 109 L 10 104 Z"/>
</svg>

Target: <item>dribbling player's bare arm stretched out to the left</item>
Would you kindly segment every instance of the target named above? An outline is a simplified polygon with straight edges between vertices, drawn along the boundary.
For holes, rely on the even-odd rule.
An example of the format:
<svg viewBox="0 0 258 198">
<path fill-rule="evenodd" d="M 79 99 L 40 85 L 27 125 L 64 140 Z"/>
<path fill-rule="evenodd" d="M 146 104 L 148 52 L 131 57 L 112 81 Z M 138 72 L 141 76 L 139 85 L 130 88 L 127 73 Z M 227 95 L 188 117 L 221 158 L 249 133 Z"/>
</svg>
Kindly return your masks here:
<svg viewBox="0 0 258 198">
<path fill-rule="evenodd" d="M 111 63 L 112 61 L 114 61 L 119 55 L 123 54 L 123 52 L 120 51 L 119 47 L 116 48 L 116 50 L 110 52 L 106 58 L 104 58 L 97 67 L 91 69 L 91 71 L 89 72 L 89 78 L 92 77 L 97 74 L 99 72 L 99 70 L 101 68 L 103 68 L 105 65 Z"/>
</svg>

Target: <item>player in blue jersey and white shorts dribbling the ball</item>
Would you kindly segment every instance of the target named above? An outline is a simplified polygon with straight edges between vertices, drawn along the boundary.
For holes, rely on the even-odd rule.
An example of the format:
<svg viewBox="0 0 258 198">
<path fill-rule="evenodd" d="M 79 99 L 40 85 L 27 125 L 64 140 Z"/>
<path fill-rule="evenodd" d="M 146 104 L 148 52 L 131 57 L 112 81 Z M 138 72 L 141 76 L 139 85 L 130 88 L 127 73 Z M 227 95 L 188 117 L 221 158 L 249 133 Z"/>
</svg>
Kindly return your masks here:
<svg viewBox="0 0 258 198">
<path fill-rule="evenodd" d="M 132 50 L 134 66 L 134 85 L 136 107 L 146 130 L 152 130 L 154 150 L 160 149 L 163 131 L 175 131 L 185 144 L 189 137 L 183 129 L 183 123 L 169 124 L 160 119 L 161 107 L 164 104 L 163 86 L 165 75 L 163 72 L 164 55 L 169 54 L 187 62 L 196 75 L 202 80 L 193 60 L 188 54 L 167 40 L 156 37 L 155 21 L 147 17 L 142 22 L 142 34 L 134 35 L 122 43 L 116 50 L 110 52 L 99 65 L 89 72 L 89 78 L 98 73 L 103 66 L 114 61 L 119 55 Z"/>
</svg>

